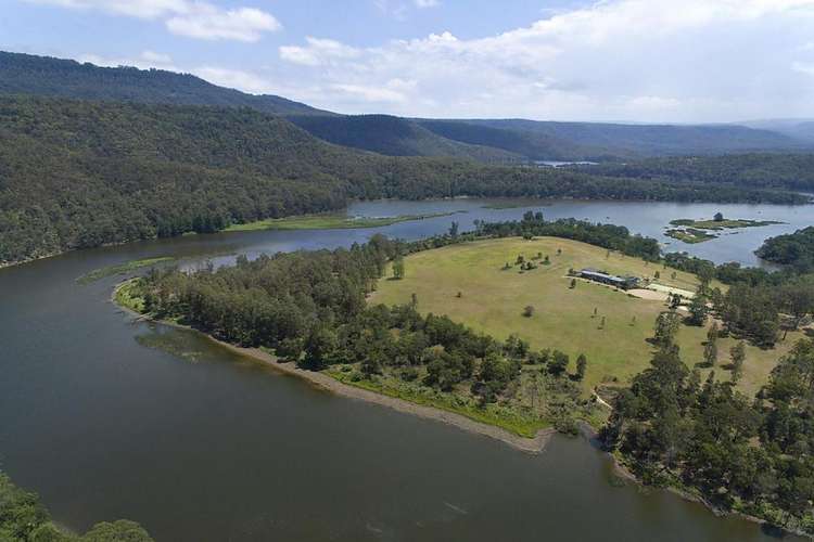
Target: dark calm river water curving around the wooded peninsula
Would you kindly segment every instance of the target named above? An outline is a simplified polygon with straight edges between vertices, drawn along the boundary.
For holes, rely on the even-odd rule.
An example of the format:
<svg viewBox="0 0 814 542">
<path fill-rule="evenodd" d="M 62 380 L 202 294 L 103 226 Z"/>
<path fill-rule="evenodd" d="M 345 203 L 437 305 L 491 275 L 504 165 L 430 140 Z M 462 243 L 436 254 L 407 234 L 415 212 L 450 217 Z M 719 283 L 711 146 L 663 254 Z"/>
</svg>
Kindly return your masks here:
<svg viewBox="0 0 814 542">
<path fill-rule="evenodd" d="M 158 541 L 768 540 L 771 533 L 661 491 L 611 483 L 606 455 L 556 437 L 539 455 L 437 422 L 339 398 L 191 332 L 132 321 L 104 266 L 173 255 L 228 261 L 418 238 L 530 208 L 661 235 L 674 218 L 783 220 L 700 245 L 755 264 L 766 236 L 810 225 L 811 207 L 555 202 L 371 202 L 349 215 L 456 211 L 374 230 L 193 235 L 0 270 L 0 467 L 76 530 L 140 521 Z M 506 202 L 498 202 L 505 204 Z M 522 203 L 518 203 L 522 205 Z M 667 249 L 675 247 L 671 245 Z M 156 348 L 160 346 L 161 348 Z"/>
</svg>

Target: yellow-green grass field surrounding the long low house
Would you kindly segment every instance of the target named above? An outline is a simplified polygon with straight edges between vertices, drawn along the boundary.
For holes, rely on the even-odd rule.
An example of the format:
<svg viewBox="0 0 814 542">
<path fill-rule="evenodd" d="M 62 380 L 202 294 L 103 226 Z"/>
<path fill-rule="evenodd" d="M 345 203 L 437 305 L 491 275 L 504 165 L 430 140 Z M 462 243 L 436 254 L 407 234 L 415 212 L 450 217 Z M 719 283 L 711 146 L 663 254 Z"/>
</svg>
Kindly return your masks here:
<svg viewBox="0 0 814 542">
<path fill-rule="evenodd" d="M 562 250 L 560 256 L 558 248 Z M 550 264 L 539 264 L 522 274 L 518 266 L 503 270 L 506 262 L 514 263 L 518 255 L 529 260 L 537 253 L 548 255 Z M 380 281 L 370 302 L 405 304 L 415 293 L 422 313 L 447 314 L 500 339 L 517 333 L 534 348 L 558 348 L 569 353 L 572 365 L 580 353 L 585 353 L 586 390 L 611 383 L 614 377 L 625 383 L 648 366 L 652 348 L 646 339 L 652 336 L 656 317 L 665 305 L 583 281 L 577 281 L 574 289 L 569 288 L 570 279 L 565 276 L 569 269 L 584 267 L 640 278 L 653 278 L 658 271 L 661 284 L 688 291 L 698 285 L 689 273 L 619 253 L 609 254 L 605 248 L 584 243 L 554 237 L 506 238 L 411 255 L 405 260 L 405 279 Z M 523 315 L 526 306 L 535 308 L 531 318 Z M 602 317 L 606 321 L 600 328 Z M 682 326 L 677 340 L 688 366 L 702 360 L 705 337 L 705 328 Z M 784 344 L 768 351 L 749 346 L 739 386 L 748 392 L 760 387 L 776 360 L 799 337 L 800 334 L 789 334 Z M 718 340 L 720 365 L 727 363 L 734 344 L 732 338 Z M 728 371 L 721 366 L 715 371 L 720 378 L 728 379 Z M 705 377 L 709 370 L 702 372 Z"/>
</svg>

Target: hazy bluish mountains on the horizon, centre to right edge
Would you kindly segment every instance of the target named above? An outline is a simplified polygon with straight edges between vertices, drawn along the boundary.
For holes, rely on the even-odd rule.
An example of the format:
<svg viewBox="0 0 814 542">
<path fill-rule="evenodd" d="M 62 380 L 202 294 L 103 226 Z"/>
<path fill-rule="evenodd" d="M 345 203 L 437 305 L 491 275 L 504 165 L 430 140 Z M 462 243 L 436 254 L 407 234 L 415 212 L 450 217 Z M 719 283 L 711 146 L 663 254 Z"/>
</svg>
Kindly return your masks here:
<svg viewBox="0 0 814 542">
<path fill-rule="evenodd" d="M 314 136 L 345 146 L 391 156 L 458 156 L 481 162 L 619 162 L 806 147 L 805 142 L 789 136 L 730 125 L 440 120 L 385 115 L 290 118 Z"/>
</svg>

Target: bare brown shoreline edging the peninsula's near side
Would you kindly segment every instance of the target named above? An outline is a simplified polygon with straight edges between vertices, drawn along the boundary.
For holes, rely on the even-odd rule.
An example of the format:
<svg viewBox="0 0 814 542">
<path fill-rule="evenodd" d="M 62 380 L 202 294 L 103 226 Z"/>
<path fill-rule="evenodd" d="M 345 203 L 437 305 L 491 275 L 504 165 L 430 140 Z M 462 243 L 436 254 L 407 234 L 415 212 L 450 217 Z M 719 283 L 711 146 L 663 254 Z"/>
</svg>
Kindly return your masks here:
<svg viewBox="0 0 814 542">
<path fill-rule="evenodd" d="M 538 430 L 534 438 L 521 437 L 495 425 L 476 422 L 456 412 L 437 409 L 434 406 L 427 406 L 423 404 L 417 404 L 405 399 L 390 397 L 382 393 L 377 393 L 376 391 L 370 391 L 368 389 L 351 386 L 348 384 L 341 383 L 325 373 L 300 369 L 294 362 L 281 363 L 277 361 L 271 354 L 269 354 L 268 352 L 264 352 L 258 348 L 245 348 L 232 345 L 224 340 L 219 340 L 212 335 L 203 333 L 189 325 L 152 319 L 144 314 L 140 314 L 128 307 L 124 307 L 116 301 L 116 292 L 123 284 L 126 284 L 127 282 L 129 282 L 129 279 L 116 284 L 116 286 L 113 288 L 113 292 L 111 293 L 111 302 L 126 314 L 135 317 L 137 321 L 154 322 L 170 327 L 177 327 L 179 330 L 195 332 L 199 335 L 217 344 L 220 347 L 226 348 L 231 352 L 251 358 L 252 360 L 263 363 L 264 365 L 269 366 L 281 374 L 301 378 L 321 390 L 329 391 L 348 399 L 355 399 L 358 401 L 365 401 L 368 403 L 385 406 L 397 412 L 421 417 L 423 420 L 432 420 L 446 425 L 450 425 L 473 435 L 480 435 L 483 437 L 492 438 L 494 440 L 498 440 L 516 450 L 531 454 L 543 452 L 551 437 L 557 433 L 557 429 L 547 427 L 545 429 Z"/>
</svg>

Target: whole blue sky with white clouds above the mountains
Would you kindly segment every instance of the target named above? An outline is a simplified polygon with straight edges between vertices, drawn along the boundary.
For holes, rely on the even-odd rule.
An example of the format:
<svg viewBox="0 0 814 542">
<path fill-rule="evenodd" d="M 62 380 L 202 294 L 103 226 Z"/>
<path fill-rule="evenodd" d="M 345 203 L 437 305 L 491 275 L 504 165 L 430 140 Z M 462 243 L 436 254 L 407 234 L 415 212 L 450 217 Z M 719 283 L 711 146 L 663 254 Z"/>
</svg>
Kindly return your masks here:
<svg viewBox="0 0 814 542">
<path fill-rule="evenodd" d="M 0 49 L 339 113 L 814 117 L 814 0 L 0 0 Z"/>
</svg>

